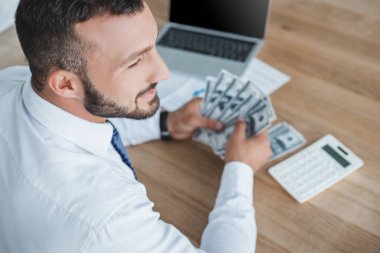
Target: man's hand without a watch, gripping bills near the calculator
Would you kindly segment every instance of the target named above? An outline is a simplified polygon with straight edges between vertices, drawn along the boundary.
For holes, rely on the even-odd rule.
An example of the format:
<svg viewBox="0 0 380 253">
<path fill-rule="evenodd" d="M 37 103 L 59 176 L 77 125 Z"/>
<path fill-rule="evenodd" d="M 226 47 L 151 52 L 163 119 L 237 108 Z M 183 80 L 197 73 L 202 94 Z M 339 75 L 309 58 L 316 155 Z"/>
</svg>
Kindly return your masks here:
<svg viewBox="0 0 380 253">
<path fill-rule="evenodd" d="M 244 162 L 257 172 L 272 155 L 268 132 L 247 138 L 245 120 L 238 120 L 227 143 L 225 161 Z"/>
</svg>

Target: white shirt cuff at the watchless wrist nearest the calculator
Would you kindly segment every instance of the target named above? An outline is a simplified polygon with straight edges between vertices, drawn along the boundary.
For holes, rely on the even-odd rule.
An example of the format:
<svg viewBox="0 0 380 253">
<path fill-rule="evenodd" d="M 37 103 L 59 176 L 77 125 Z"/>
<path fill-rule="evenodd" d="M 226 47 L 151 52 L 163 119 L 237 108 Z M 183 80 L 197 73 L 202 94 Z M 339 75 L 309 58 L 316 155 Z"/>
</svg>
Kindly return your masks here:
<svg viewBox="0 0 380 253">
<path fill-rule="evenodd" d="M 217 199 L 244 195 L 253 205 L 253 169 L 243 162 L 229 162 L 224 166 Z"/>
</svg>

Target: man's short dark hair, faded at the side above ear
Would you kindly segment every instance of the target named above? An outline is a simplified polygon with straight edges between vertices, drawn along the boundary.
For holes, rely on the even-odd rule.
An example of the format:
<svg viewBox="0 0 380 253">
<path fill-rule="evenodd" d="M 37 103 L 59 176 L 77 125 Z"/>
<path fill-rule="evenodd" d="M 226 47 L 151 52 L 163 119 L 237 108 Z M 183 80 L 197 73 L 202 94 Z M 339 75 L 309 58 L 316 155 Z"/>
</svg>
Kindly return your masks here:
<svg viewBox="0 0 380 253">
<path fill-rule="evenodd" d="M 81 41 L 74 25 L 103 15 L 133 14 L 142 0 L 20 0 L 16 30 L 29 62 L 32 83 L 42 90 L 56 68 L 86 73 L 85 54 L 91 45 Z"/>
</svg>

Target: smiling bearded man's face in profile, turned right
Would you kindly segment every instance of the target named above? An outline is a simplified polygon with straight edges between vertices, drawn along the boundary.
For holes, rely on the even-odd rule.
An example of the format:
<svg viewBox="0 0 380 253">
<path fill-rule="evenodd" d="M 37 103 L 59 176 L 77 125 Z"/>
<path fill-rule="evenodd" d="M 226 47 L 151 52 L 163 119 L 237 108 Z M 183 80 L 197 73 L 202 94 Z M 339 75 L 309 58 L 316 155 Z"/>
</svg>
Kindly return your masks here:
<svg viewBox="0 0 380 253">
<path fill-rule="evenodd" d="M 148 6 L 132 15 L 93 18 L 76 29 L 94 45 L 82 77 L 85 108 L 101 117 L 153 115 L 159 107 L 155 86 L 169 71 L 156 51 L 157 24 Z"/>
</svg>

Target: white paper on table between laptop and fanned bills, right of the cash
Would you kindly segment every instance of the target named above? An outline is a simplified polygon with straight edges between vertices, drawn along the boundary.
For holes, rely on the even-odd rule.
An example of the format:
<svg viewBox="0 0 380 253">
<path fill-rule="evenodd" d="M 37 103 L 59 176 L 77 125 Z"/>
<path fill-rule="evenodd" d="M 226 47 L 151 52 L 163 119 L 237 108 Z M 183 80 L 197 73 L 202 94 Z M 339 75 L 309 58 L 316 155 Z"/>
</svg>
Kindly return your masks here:
<svg viewBox="0 0 380 253">
<path fill-rule="evenodd" d="M 288 75 L 257 58 L 249 63 L 241 78 L 251 80 L 267 95 L 272 94 L 290 80 Z"/>
</svg>

